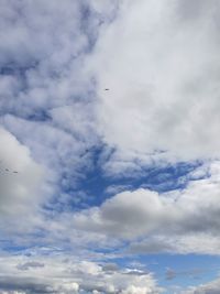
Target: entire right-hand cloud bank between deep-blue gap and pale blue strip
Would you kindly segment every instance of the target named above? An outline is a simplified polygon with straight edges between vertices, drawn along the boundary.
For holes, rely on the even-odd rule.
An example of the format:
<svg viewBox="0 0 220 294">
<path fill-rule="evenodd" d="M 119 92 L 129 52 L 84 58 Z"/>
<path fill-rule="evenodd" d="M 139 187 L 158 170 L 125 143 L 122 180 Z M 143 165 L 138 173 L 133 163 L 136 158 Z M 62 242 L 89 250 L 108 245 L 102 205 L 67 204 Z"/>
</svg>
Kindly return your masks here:
<svg viewBox="0 0 220 294">
<path fill-rule="evenodd" d="M 148 189 L 122 192 L 100 207 L 75 214 L 78 229 L 135 240 L 131 251 L 219 254 L 219 163 L 211 176 L 191 181 L 183 190 L 158 194 Z M 201 242 L 202 240 L 202 242 Z"/>
</svg>

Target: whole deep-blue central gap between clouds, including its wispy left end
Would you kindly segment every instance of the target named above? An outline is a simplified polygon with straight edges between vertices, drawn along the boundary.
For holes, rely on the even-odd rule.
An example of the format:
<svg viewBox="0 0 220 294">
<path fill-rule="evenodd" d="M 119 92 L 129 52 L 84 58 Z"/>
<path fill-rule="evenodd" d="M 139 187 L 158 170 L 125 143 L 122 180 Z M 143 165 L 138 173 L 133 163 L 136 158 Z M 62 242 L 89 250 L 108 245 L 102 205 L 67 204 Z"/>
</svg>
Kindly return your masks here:
<svg viewBox="0 0 220 294">
<path fill-rule="evenodd" d="M 63 176 L 61 181 L 62 193 L 58 198 L 54 198 L 47 205 L 47 208 L 52 207 L 53 210 L 62 211 L 100 206 L 106 199 L 120 192 L 139 188 L 147 188 L 158 193 L 184 189 L 190 181 L 190 173 L 202 165 L 201 162 L 180 162 L 167 166 L 145 166 L 142 168 L 143 172 L 138 173 L 138 175 L 123 173 L 123 177 L 120 175 L 112 177 L 106 174 L 102 168 L 103 150 L 105 145 L 100 145 L 85 151 L 85 154 L 89 154 L 88 165 L 79 166 L 77 181 L 70 181 L 73 177 L 70 171 L 69 174 Z M 62 182 L 68 183 L 68 185 L 62 185 Z M 63 196 L 61 197 L 61 195 Z"/>
</svg>

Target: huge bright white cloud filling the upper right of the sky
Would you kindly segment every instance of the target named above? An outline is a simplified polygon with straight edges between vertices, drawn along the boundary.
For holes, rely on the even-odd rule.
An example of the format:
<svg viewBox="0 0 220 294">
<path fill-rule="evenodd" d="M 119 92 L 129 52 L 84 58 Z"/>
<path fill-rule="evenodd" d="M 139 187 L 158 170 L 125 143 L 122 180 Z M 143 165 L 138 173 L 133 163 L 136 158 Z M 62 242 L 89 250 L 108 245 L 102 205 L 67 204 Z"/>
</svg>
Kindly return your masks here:
<svg viewBox="0 0 220 294">
<path fill-rule="evenodd" d="M 219 156 L 219 10 L 216 0 L 121 1 L 91 62 L 99 131 L 118 154 L 112 173 L 146 154 Z"/>
</svg>

